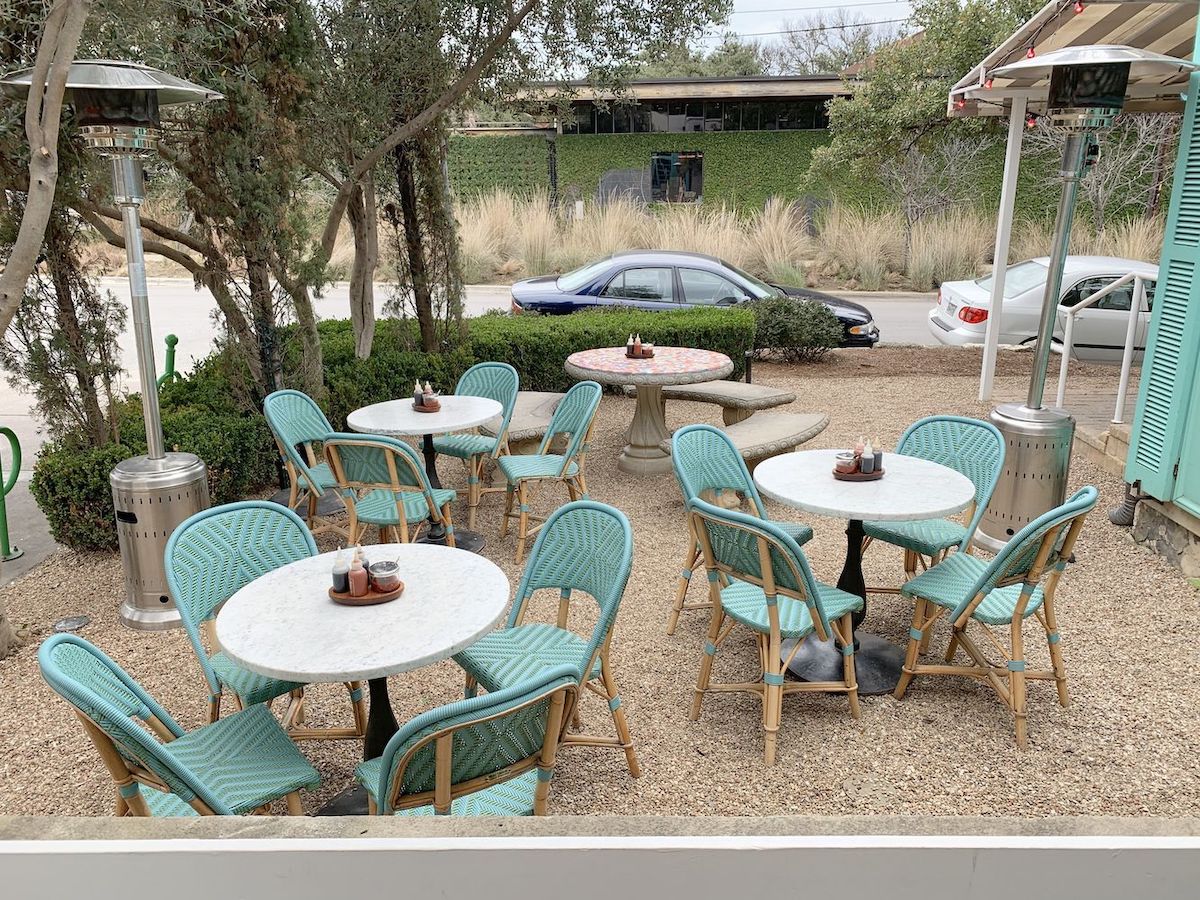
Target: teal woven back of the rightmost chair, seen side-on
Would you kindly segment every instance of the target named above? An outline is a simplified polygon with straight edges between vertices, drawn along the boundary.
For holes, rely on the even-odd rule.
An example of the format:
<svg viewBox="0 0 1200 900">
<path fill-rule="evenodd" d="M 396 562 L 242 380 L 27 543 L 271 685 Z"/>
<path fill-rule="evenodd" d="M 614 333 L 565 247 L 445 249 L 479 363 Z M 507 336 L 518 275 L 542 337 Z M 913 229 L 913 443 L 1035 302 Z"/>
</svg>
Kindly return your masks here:
<svg viewBox="0 0 1200 900">
<path fill-rule="evenodd" d="M 1098 497 L 1094 487 L 1081 487 L 1064 504 L 1043 512 L 1018 532 L 989 563 L 954 611 L 952 620 L 958 620 L 974 598 L 986 595 L 996 587 L 1019 581 L 1037 584 L 1051 572 L 1061 572 Z"/>
</svg>

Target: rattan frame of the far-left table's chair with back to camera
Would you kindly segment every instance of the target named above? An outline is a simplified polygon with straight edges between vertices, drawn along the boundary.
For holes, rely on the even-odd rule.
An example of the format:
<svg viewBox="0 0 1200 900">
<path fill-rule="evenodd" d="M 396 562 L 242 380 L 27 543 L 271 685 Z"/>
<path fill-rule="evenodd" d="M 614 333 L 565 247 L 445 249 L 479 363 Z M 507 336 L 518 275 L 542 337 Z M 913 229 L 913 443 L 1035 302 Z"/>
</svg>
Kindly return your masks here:
<svg viewBox="0 0 1200 900">
<path fill-rule="evenodd" d="M 388 469 L 388 480 L 354 481 L 349 479 L 341 454 L 341 448 L 347 445 L 374 449 L 383 454 Z M 329 468 L 332 470 L 334 478 L 337 479 L 337 490 L 341 492 L 346 511 L 349 514 L 350 544 L 361 544 L 362 535 L 367 529 L 367 523 L 359 522 L 358 500 L 361 499 L 361 494 L 372 491 L 391 491 L 392 494 L 410 492 L 425 494 L 425 504 L 428 506 L 430 516 L 414 523 L 412 529 L 409 529 L 409 523 L 404 517 L 403 502 L 397 497 L 396 518 L 398 520 L 398 524 L 378 526 L 380 544 L 385 542 L 385 533 L 389 530 L 396 542 L 409 544 L 420 536 L 422 526 L 428 528 L 432 523 L 438 523 L 445 528 L 446 546 L 455 546 L 454 521 L 450 512 L 451 500 L 446 500 L 442 506 L 434 503 L 433 486 L 430 484 L 430 478 L 421 467 L 416 451 L 410 446 L 395 438 L 335 432 L 325 440 L 325 458 L 329 461 Z M 402 470 L 408 473 L 409 481 L 406 482 L 401 478 Z"/>
</svg>

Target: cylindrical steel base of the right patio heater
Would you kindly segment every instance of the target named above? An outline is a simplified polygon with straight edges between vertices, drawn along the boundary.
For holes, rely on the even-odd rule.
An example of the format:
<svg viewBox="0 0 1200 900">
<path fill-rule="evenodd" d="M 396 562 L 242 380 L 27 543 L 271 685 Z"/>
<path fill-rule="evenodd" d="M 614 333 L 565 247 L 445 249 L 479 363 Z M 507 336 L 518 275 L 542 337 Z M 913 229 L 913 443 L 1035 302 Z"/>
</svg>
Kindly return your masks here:
<svg viewBox="0 0 1200 900">
<path fill-rule="evenodd" d="M 1004 436 L 1004 470 L 974 544 L 998 552 L 1013 535 L 1067 498 L 1075 420 L 1064 409 L 1006 403 L 989 420 Z"/>
</svg>

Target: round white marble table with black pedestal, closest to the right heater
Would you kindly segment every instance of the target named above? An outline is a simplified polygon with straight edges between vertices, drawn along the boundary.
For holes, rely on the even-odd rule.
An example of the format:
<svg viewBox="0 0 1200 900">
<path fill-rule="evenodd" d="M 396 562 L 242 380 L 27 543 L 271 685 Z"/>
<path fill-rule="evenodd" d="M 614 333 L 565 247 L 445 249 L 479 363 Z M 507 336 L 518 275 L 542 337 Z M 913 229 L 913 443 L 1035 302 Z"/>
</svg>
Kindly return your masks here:
<svg viewBox="0 0 1200 900">
<path fill-rule="evenodd" d="M 863 578 L 863 521 L 942 518 L 965 510 L 974 500 L 974 485 L 952 468 L 929 460 L 883 454 L 884 475 L 877 481 L 839 481 L 834 458 L 841 450 L 803 450 L 758 463 L 755 484 L 766 497 L 818 516 L 848 520 L 846 562 L 838 587 L 863 598 L 854 622 L 854 670 L 859 694 L 888 694 L 900 679 L 904 650 L 881 637 L 858 631 L 866 616 Z M 784 658 L 793 642 L 785 642 Z M 833 641 L 810 637 L 790 666 L 810 680 L 840 680 L 841 652 Z"/>
</svg>

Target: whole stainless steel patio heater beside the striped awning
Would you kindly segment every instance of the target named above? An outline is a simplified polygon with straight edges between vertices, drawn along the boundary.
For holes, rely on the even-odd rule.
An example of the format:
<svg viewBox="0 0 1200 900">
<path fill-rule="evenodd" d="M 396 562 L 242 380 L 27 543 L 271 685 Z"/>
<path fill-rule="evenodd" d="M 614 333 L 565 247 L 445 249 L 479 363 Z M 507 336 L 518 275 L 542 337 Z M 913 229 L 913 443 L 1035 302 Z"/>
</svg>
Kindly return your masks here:
<svg viewBox="0 0 1200 900">
<path fill-rule="evenodd" d="M 1190 62 L 1147 50 L 1093 46 L 1026 58 L 994 73 L 1031 85 L 1049 77 L 1045 118 L 1067 131 L 1067 140 L 1028 395 L 1025 403 L 1004 403 L 990 416 L 1004 436 L 1006 456 L 1004 470 L 976 533 L 974 542 L 986 550 L 998 551 L 1025 524 L 1066 499 L 1075 420 L 1066 409 L 1043 406 L 1043 398 L 1079 180 L 1090 156 L 1098 152 L 1097 134 L 1110 127 L 1123 108 L 1130 74 L 1175 74 L 1189 68 Z"/>
</svg>

